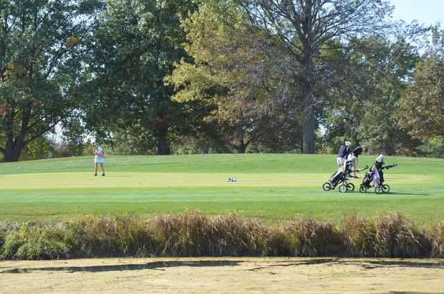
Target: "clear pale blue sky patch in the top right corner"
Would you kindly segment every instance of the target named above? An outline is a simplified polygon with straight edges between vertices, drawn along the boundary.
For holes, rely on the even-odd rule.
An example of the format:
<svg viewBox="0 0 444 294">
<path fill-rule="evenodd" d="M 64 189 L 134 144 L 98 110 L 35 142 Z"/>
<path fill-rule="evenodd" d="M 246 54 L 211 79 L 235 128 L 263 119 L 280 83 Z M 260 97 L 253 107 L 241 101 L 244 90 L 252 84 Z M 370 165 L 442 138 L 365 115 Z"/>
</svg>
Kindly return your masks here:
<svg viewBox="0 0 444 294">
<path fill-rule="evenodd" d="M 444 0 L 392 0 L 395 10 L 393 19 L 409 23 L 416 19 L 429 25 L 441 22 L 444 26 Z"/>
</svg>

